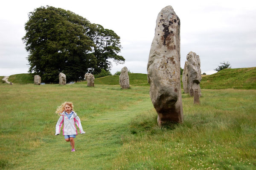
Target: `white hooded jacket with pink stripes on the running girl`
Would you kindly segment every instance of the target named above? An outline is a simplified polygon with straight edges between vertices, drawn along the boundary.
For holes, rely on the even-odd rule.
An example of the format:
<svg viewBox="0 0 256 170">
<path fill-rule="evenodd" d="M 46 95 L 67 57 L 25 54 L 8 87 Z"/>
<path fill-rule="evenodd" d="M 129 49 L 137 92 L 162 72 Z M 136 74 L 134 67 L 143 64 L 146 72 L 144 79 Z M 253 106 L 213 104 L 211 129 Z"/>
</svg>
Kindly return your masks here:
<svg viewBox="0 0 256 170">
<path fill-rule="evenodd" d="M 77 129 L 76 126 L 79 127 L 80 133 L 84 134 L 83 127 L 81 125 L 80 118 L 78 115 L 76 115 L 76 112 L 73 112 L 73 115 L 70 119 L 68 119 L 66 112 L 62 112 L 60 118 L 58 119 L 58 122 L 56 124 L 56 132 L 55 135 L 59 135 L 61 132 L 61 126 L 63 124 L 63 135 L 77 135 Z"/>
</svg>

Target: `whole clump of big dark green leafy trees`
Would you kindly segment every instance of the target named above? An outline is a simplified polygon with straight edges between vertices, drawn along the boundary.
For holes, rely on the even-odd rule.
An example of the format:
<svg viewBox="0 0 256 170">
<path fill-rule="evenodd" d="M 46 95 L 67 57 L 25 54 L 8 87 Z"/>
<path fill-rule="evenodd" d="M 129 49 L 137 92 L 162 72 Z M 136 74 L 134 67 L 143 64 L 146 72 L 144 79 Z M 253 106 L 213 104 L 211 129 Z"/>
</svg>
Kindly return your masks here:
<svg viewBox="0 0 256 170">
<path fill-rule="evenodd" d="M 87 72 L 109 71 L 111 63 L 124 62 L 120 37 L 109 29 L 73 12 L 52 6 L 40 7 L 29 13 L 22 38 L 29 52 L 29 72 L 43 81 L 56 82 L 63 72 L 67 81 L 76 81 Z"/>
</svg>

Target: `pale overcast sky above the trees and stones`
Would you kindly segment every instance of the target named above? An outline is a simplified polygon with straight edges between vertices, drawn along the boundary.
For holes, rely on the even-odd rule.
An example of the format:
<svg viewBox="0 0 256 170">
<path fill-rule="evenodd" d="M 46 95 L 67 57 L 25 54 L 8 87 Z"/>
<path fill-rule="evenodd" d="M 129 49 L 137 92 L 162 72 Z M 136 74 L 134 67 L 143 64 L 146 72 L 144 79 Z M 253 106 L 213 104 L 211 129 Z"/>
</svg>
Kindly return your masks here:
<svg viewBox="0 0 256 170">
<path fill-rule="evenodd" d="M 256 66 L 256 1 L 253 0 L 6 0 L 0 6 L 0 75 L 27 73 L 21 38 L 28 13 L 40 6 L 70 10 L 121 37 L 125 64 L 134 73 L 147 73 L 148 55 L 158 13 L 172 6 L 180 18 L 180 61 L 195 52 L 201 72 L 215 73 L 222 62 L 231 68 Z"/>
</svg>

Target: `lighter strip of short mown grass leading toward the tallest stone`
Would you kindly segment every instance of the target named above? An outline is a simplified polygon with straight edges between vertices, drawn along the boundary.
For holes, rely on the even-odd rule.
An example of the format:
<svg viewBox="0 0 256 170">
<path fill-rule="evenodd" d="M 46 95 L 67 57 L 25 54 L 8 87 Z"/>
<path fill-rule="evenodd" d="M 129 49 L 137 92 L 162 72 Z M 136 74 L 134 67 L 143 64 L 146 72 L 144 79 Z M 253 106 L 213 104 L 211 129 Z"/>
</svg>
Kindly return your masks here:
<svg viewBox="0 0 256 170">
<path fill-rule="evenodd" d="M 83 122 L 85 134 L 78 135 L 76 152 L 70 153 L 69 142 L 64 137 L 50 137 L 47 143 L 35 149 L 27 156 L 20 169 L 76 169 L 106 170 L 111 169 L 112 160 L 116 158 L 122 147 L 122 134 L 128 132 L 131 119 L 140 114 L 141 110 L 152 108 L 150 99 L 138 101 L 131 107 L 120 111 L 106 112 Z M 24 160 L 22 160 L 24 161 Z M 37 167 L 30 167 L 37 165 Z M 43 166 L 43 167 L 42 167 Z"/>
</svg>

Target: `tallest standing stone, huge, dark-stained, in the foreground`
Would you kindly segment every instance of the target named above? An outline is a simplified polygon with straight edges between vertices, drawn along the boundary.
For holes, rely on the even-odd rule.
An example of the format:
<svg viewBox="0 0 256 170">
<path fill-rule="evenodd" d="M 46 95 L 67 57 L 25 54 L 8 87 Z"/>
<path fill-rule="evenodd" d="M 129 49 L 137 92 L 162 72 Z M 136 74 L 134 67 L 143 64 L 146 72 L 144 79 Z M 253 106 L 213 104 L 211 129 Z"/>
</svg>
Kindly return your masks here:
<svg viewBox="0 0 256 170">
<path fill-rule="evenodd" d="M 180 87 L 180 19 L 172 6 L 166 6 L 157 16 L 147 71 L 150 97 L 158 114 L 158 125 L 183 122 Z"/>
</svg>

